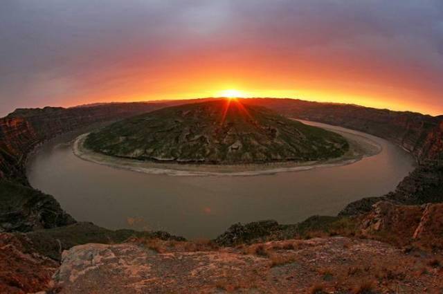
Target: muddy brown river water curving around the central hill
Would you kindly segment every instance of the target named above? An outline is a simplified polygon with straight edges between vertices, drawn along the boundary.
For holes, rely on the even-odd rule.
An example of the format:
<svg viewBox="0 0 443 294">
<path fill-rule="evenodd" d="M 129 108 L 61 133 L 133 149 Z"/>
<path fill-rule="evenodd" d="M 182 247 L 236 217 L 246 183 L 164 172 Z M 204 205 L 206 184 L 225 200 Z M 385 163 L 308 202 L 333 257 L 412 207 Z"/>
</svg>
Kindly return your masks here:
<svg viewBox="0 0 443 294">
<path fill-rule="evenodd" d="M 51 194 L 78 221 L 105 228 L 165 230 L 190 239 L 213 238 L 237 222 L 296 223 L 335 215 L 347 203 L 394 190 L 414 169 L 406 151 L 381 138 L 347 131 L 382 151 L 350 165 L 254 176 L 170 176 L 98 165 L 75 156 L 65 134 L 28 162 L 33 187 Z"/>
</svg>

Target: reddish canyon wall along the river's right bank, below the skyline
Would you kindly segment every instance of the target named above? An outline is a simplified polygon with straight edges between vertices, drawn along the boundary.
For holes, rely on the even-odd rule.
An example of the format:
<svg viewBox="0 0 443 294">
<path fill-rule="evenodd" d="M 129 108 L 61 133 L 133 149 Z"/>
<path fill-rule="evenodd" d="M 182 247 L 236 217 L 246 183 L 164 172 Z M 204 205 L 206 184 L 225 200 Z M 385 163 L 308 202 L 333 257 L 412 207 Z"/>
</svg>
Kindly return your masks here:
<svg viewBox="0 0 443 294">
<path fill-rule="evenodd" d="M 443 151 L 443 116 L 292 99 L 253 98 L 247 102 L 268 107 L 284 116 L 384 138 L 410 151 L 418 161 L 436 159 Z"/>
</svg>

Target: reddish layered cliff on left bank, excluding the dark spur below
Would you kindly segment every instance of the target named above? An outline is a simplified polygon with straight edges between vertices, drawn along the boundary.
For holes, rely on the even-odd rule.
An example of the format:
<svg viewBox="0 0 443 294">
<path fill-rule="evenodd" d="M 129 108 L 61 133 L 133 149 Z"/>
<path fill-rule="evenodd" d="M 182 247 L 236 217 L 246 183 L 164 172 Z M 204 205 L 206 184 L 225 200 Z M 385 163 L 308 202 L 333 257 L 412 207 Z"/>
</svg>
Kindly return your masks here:
<svg viewBox="0 0 443 294">
<path fill-rule="evenodd" d="M 26 183 L 26 156 L 59 134 L 164 107 L 161 103 L 115 103 L 96 107 L 17 109 L 0 119 L 0 178 Z"/>
</svg>

